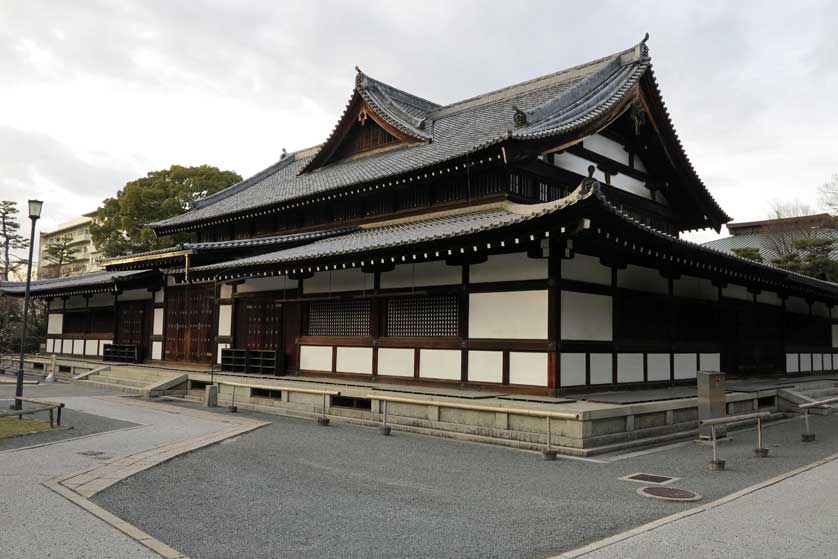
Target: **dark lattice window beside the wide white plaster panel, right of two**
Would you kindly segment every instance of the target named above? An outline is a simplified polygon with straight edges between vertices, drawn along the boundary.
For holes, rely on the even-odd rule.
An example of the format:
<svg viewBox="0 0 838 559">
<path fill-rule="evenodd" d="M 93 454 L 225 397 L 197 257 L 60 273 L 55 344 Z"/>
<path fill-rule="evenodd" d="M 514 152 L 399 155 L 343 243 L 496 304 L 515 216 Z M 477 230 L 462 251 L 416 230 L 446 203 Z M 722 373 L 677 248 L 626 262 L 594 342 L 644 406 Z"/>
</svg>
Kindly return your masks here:
<svg viewBox="0 0 838 559">
<path fill-rule="evenodd" d="M 386 336 L 458 336 L 460 302 L 456 295 L 399 297 L 387 301 Z"/>
</svg>

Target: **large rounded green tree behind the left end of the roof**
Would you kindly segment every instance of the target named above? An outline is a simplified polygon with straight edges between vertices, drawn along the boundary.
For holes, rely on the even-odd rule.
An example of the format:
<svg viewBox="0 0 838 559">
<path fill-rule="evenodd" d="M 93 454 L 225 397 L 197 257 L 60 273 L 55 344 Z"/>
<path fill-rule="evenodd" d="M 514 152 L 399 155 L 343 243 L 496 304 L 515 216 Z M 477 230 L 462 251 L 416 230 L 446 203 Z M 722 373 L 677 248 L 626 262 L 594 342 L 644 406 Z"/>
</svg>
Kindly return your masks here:
<svg viewBox="0 0 838 559">
<path fill-rule="evenodd" d="M 188 235 L 157 237 L 148 223 L 179 215 L 195 200 L 240 182 L 233 171 L 201 165 L 152 171 L 133 180 L 108 198 L 90 226 L 93 243 L 104 256 L 119 256 L 167 248 L 188 240 Z"/>
</svg>

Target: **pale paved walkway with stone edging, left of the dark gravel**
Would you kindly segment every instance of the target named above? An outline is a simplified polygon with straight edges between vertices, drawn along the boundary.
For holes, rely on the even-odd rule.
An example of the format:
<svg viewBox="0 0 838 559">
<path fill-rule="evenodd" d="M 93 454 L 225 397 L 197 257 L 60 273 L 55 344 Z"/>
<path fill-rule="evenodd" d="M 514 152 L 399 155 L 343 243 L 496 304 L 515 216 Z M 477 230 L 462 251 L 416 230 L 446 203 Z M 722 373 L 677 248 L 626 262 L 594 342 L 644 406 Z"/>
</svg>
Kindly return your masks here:
<svg viewBox="0 0 838 559">
<path fill-rule="evenodd" d="M 35 392 L 30 395 L 35 397 Z M 130 526 L 120 531 L 95 510 L 90 514 L 78 505 L 142 468 L 216 442 L 222 433 L 229 437 L 235 434 L 231 428 L 241 424 L 237 418 L 103 396 L 100 391 L 62 397 L 56 386 L 49 392 L 37 397 L 60 399 L 68 408 L 139 426 L 0 452 L 0 556 L 159 559 L 149 549 L 154 542 L 143 545 L 138 534 L 132 538 L 125 533 Z"/>
</svg>

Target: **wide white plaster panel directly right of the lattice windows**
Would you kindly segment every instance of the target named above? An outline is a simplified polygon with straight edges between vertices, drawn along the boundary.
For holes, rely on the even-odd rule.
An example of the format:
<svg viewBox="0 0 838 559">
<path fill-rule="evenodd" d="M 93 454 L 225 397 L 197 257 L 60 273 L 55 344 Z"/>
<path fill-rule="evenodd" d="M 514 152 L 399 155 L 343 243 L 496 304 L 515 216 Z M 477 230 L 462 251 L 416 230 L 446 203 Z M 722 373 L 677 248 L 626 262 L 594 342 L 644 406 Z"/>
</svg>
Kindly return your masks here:
<svg viewBox="0 0 838 559">
<path fill-rule="evenodd" d="M 470 293 L 470 338 L 547 338 L 547 290 Z"/>
</svg>

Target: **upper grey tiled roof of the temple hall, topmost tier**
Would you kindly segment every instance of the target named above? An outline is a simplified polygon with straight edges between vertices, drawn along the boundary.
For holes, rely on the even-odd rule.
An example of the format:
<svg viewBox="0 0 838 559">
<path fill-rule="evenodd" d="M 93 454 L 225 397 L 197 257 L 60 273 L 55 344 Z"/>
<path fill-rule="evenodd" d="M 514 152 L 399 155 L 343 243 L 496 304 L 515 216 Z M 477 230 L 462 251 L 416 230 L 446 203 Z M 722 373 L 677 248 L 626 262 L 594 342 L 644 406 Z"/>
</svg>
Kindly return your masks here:
<svg viewBox="0 0 838 559">
<path fill-rule="evenodd" d="M 336 161 L 311 172 L 301 171 L 314 155 L 292 154 L 255 177 L 196 203 L 189 212 L 151 226 L 175 231 L 354 185 L 380 181 L 375 186 L 387 187 L 392 185 L 388 180 L 399 175 L 442 165 L 503 141 L 572 134 L 611 118 L 650 68 L 648 50 L 641 43 L 581 66 L 446 106 L 437 106 L 359 72 L 357 91 L 383 118 L 405 133 L 429 141 Z M 653 78 L 651 81 L 654 85 Z M 677 141 L 674 131 L 672 136 Z M 680 148 L 680 143 L 677 146 Z M 686 154 L 681 157 L 689 165 Z M 726 218 L 693 175 L 708 198 L 708 207 L 713 207 L 707 212 Z"/>
</svg>

